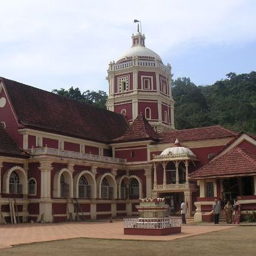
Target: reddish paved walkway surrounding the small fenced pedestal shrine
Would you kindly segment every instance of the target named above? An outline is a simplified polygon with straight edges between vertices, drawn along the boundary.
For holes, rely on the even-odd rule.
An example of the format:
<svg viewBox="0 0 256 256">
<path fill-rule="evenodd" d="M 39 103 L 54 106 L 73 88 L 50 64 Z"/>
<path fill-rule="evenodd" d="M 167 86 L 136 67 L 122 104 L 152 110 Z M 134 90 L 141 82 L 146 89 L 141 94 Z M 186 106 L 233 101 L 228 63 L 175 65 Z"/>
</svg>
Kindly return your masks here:
<svg viewBox="0 0 256 256">
<path fill-rule="evenodd" d="M 108 222 L 69 222 L 59 224 L 16 224 L 0 226 L 0 249 L 15 244 L 35 243 L 68 238 L 108 238 L 127 240 L 169 241 L 187 236 L 199 235 L 234 226 L 182 226 L 182 233 L 167 236 L 124 235 L 123 221 Z"/>
</svg>

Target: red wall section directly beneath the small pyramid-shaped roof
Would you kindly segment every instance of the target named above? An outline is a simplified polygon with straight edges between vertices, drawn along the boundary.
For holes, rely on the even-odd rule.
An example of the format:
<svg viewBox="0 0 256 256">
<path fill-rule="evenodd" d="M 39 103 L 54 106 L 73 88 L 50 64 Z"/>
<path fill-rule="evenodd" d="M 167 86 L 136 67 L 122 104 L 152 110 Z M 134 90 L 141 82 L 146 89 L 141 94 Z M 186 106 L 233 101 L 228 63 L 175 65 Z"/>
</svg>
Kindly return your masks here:
<svg viewBox="0 0 256 256">
<path fill-rule="evenodd" d="M 134 157 L 132 157 L 132 151 L 134 152 Z M 147 161 L 148 153 L 147 149 L 124 149 L 121 151 L 115 151 L 115 157 L 124 158 L 127 162 L 140 162 Z"/>
</svg>

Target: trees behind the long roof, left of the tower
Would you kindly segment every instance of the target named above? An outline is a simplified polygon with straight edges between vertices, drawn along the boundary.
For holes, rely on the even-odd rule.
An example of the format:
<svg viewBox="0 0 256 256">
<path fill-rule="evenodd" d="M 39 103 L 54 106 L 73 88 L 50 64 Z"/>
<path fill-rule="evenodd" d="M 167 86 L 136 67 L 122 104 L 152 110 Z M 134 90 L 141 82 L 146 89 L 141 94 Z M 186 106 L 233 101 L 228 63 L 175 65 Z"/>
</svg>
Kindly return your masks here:
<svg viewBox="0 0 256 256">
<path fill-rule="evenodd" d="M 107 93 L 105 91 L 84 91 L 81 93 L 79 88 L 69 88 L 65 90 L 61 88 L 60 90 L 52 90 L 52 93 L 59 94 L 61 96 L 65 96 L 71 99 L 76 99 L 76 101 L 86 102 L 88 104 L 96 105 L 101 108 L 106 108 L 105 103 L 107 101 Z"/>
</svg>

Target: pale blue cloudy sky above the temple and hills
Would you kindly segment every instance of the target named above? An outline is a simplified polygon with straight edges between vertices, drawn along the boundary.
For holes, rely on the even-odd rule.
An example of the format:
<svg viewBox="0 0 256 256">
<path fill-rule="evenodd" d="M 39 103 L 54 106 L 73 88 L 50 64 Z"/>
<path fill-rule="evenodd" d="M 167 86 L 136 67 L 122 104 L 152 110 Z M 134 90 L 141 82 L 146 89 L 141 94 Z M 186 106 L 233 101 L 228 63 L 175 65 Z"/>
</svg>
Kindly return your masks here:
<svg viewBox="0 0 256 256">
<path fill-rule="evenodd" d="M 174 79 L 209 85 L 256 70 L 255 13 L 255 0 L 0 0 L 0 76 L 108 92 L 108 63 L 130 48 L 137 19 Z"/>
</svg>

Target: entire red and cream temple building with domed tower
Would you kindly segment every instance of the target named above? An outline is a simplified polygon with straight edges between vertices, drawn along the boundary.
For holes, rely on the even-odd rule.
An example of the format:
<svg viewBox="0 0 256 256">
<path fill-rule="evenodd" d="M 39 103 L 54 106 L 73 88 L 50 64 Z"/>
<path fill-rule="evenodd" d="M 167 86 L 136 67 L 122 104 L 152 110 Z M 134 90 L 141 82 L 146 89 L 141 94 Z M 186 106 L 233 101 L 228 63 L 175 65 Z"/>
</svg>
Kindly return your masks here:
<svg viewBox="0 0 256 256">
<path fill-rule="evenodd" d="M 176 130 L 171 65 L 145 40 L 109 63 L 107 110 L 0 77 L 0 222 L 13 200 L 19 221 L 138 215 L 143 197 L 172 215 L 185 200 L 195 221 L 221 195 L 256 210 L 256 137 Z"/>
</svg>

